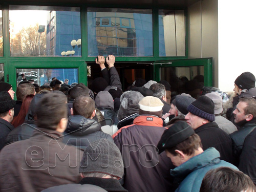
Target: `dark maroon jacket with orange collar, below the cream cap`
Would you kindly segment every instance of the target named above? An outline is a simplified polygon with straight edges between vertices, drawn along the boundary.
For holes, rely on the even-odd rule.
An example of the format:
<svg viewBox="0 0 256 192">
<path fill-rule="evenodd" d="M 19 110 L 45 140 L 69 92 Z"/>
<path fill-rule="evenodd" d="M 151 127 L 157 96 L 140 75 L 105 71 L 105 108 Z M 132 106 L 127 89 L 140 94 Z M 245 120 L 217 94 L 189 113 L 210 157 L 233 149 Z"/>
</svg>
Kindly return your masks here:
<svg viewBox="0 0 256 192">
<path fill-rule="evenodd" d="M 141 115 L 134 119 L 134 124 L 122 127 L 112 136 L 122 153 L 123 187 L 128 191 L 173 190 L 167 178 L 174 166 L 165 152 L 159 155 L 156 147 L 165 129 L 161 118 Z"/>
</svg>

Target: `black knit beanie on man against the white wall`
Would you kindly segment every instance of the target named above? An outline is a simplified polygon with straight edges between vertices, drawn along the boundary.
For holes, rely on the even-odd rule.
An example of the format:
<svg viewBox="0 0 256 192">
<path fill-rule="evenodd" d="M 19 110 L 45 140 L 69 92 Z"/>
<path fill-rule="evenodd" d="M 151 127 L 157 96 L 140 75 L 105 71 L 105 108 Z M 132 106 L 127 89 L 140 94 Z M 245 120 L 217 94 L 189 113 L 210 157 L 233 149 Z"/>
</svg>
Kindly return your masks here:
<svg viewBox="0 0 256 192">
<path fill-rule="evenodd" d="M 251 89 L 255 87 L 255 76 L 250 72 L 244 72 L 234 81 L 240 89 Z"/>
</svg>

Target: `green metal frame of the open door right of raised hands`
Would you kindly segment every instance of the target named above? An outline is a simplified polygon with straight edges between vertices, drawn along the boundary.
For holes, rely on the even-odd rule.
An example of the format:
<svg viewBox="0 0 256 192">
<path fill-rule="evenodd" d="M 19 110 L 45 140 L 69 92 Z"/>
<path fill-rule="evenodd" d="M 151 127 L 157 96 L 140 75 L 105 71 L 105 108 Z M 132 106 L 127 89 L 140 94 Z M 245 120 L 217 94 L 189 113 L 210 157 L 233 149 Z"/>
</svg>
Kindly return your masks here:
<svg viewBox="0 0 256 192">
<path fill-rule="evenodd" d="M 210 86 L 210 87 L 212 86 L 212 58 L 168 60 L 168 61 L 157 61 L 157 63 L 163 63 L 163 64 L 154 65 L 155 81 L 161 80 L 160 68 L 203 66 L 204 67 L 204 86 Z"/>
</svg>

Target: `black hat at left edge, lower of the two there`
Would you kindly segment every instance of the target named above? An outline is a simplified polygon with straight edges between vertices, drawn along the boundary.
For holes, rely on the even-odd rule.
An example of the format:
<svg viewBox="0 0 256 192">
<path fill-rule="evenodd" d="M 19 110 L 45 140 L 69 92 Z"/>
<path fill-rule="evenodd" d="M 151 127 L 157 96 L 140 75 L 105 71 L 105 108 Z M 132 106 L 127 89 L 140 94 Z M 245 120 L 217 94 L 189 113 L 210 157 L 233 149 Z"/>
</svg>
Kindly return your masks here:
<svg viewBox="0 0 256 192">
<path fill-rule="evenodd" d="M 14 108 L 16 102 L 12 100 L 10 94 L 7 91 L 0 92 L 0 113 L 5 113 Z"/>
</svg>

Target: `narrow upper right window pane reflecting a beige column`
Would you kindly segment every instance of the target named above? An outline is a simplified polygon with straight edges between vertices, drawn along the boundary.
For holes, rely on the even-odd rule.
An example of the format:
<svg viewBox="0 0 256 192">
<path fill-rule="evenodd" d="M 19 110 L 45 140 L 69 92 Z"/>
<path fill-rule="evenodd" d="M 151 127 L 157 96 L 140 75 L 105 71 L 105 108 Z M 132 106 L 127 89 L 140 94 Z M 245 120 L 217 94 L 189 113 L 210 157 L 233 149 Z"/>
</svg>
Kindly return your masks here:
<svg viewBox="0 0 256 192">
<path fill-rule="evenodd" d="M 184 10 L 159 10 L 159 55 L 185 56 Z"/>
</svg>

